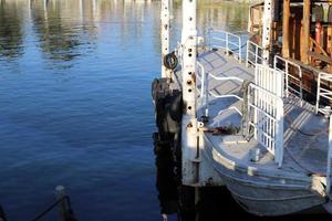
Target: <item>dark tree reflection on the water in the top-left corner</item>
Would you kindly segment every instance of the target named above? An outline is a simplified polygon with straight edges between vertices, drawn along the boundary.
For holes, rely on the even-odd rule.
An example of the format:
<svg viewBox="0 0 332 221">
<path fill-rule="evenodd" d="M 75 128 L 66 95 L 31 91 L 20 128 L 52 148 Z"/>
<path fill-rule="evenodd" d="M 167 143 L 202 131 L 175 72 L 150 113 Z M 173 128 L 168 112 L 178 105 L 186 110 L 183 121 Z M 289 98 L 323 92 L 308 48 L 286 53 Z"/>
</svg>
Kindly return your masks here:
<svg viewBox="0 0 332 221">
<path fill-rule="evenodd" d="M 18 2 L 0 1 L 0 55 L 18 57 L 23 54 L 22 22 Z"/>
</svg>

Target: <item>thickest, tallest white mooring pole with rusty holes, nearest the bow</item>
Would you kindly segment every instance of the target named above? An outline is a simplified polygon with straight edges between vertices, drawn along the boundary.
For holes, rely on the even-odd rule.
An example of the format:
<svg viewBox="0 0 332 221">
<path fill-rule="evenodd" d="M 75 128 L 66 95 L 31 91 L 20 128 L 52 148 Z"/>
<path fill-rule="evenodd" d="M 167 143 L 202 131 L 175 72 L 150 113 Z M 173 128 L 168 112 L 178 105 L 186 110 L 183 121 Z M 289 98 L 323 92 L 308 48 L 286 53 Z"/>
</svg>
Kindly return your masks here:
<svg viewBox="0 0 332 221">
<path fill-rule="evenodd" d="M 196 24 L 197 0 L 183 0 L 183 185 L 198 182 L 197 118 L 196 118 Z"/>
</svg>

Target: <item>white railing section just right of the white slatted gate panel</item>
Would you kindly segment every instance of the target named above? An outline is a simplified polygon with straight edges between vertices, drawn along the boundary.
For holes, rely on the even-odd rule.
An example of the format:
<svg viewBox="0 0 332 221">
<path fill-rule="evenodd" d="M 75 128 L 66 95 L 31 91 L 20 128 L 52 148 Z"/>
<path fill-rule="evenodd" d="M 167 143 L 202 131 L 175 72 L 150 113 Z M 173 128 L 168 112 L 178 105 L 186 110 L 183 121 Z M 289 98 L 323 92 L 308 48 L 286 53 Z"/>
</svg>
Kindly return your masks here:
<svg viewBox="0 0 332 221">
<path fill-rule="evenodd" d="M 284 95 L 289 96 L 289 92 L 303 101 L 302 93 L 302 69 L 299 64 L 276 55 L 273 59 L 273 69 L 282 72 L 284 75 Z M 297 71 L 295 71 L 297 70 Z M 297 75 L 295 75 L 297 73 Z M 298 87 L 298 88 L 297 88 Z"/>
</svg>

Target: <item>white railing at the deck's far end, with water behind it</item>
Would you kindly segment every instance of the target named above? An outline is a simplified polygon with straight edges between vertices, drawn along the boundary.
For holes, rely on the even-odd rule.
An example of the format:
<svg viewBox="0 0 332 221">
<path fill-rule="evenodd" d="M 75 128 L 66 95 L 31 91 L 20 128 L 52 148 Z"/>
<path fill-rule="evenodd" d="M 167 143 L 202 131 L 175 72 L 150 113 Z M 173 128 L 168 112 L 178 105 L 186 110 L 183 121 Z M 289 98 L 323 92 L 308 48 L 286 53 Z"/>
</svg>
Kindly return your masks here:
<svg viewBox="0 0 332 221">
<path fill-rule="evenodd" d="M 242 61 L 242 41 L 241 36 L 224 30 L 209 29 L 208 31 L 210 49 L 221 49 L 227 53 L 236 54 L 236 59 Z"/>
</svg>

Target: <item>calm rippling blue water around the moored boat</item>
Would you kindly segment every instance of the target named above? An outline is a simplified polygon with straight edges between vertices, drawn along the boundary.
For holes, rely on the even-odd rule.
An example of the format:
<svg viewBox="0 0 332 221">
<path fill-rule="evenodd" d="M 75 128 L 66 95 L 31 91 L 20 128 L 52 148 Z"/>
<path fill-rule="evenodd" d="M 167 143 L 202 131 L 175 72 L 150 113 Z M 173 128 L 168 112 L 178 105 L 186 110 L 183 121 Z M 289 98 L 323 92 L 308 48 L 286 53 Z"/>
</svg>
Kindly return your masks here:
<svg viewBox="0 0 332 221">
<path fill-rule="evenodd" d="M 80 221 L 160 220 L 159 2 L 0 2 L 0 204 L 10 221 L 31 220 L 63 185 Z M 225 25 L 225 11 L 201 7 L 200 27 Z M 246 29 L 232 11 L 231 28 Z"/>
</svg>

